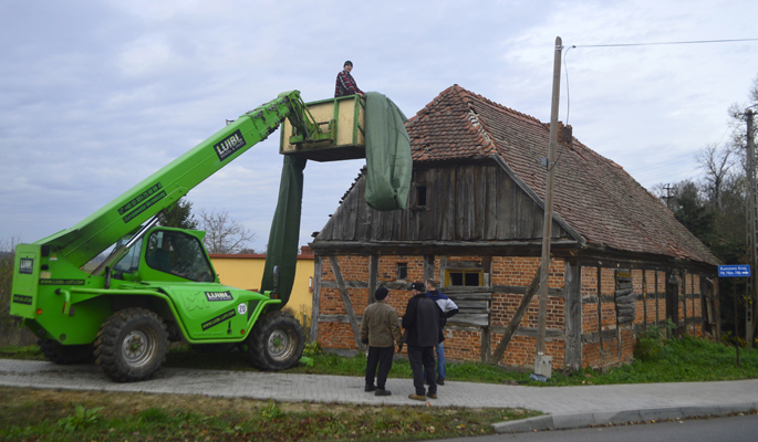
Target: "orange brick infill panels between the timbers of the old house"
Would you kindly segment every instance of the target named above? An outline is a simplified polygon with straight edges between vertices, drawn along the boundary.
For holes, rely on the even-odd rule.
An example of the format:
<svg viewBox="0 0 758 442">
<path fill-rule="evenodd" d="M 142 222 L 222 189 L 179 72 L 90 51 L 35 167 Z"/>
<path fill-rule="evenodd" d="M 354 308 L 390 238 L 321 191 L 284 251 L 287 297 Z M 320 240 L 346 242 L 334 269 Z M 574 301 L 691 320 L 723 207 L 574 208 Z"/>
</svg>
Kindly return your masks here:
<svg viewBox="0 0 758 442">
<path fill-rule="evenodd" d="M 481 261 L 481 256 L 445 256 L 448 262 L 455 261 Z M 370 259 L 367 256 L 339 256 L 338 263 L 344 281 L 351 283 L 363 283 L 368 281 Z M 407 278 L 397 280 L 397 263 L 407 264 Z M 495 256 L 492 257 L 491 282 L 495 286 L 527 287 L 531 283 L 534 272 L 539 267 L 539 257 L 519 256 Z M 442 257 L 435 259 L 435 278 L 442 270 Z M 487 271 L 487 270 L 485 270 Z M 550 267 L 550 287 L 564 287 L 565 264 L 562 260 L 553 260 Z M 583 341 L 582 344 L 582 366 L 599 367 L 629 362 L 633 359 L 635 334 L 634 328 L 645 327 L 645 308 L 647 308 L 647 325 L 656 322 L 655 307 L 657 304 L 658 323 L 665 322 L 666 304 L 665 288 L 666 274 L 663 271 L 632 271 L 632 283 L 634 293 L 643 294 L 643 298 L 635 302 L 635 318 L 632 324 L 622 324 L 621 329 L 616 329 L 616 308 L 615 295 L 615 269 L 601 267 L 601 290 L 600 295 L 605 296 L 601 303 L 601 330 L 610 333 L 612 336 L 603 338 L 602 348 L 599 341 Z M 657 287 L 655 275 L 658 275 Z M 403 283 L 424 280 L 424 256 L 414 255 L 382 255 L 378 260 L 378 283 Z M 687 312 L 687 333 L 700 336 L 702 324 L 695 324 L 694 317 L 702 315 L 702 302 L 699 297 L 699 277 L 697 275 L 685 275 L 686 293 L 689 294 L 686 303 Z M 334 272 L 329 259 L 323 260 L 321 273 L 321 315 L 345 315 L 346 311 L 339 288 L 324 287 L 324 283 L 334 285 Z M 326 284 L 329 285 L 329 284 Z M 682 287 L 682 286 L 679 286 Z M 445 288 L 442 288 L 443 293 Z M 654 294 L 661 294 L 660 299 L 654 298 Z M 357 316 L 362 316 L 368 303 L 368 290 L 361 287 L 349 287 L 353 311 Z M 693 298 L 692 295 L 695 295 Z M 584 335 L 596 336 L 599 332 L 598 320 L 598 267 L 582 267 L 581 271 L 581 297 L 582 297 L 582 333 Z M 522 293 L 494 293 L 491 302 L 490 325 L 507 326 L 516 308 L 521 302 Z M 411 292 L 406 290 L 390 290 L 387 302 L 402 316 L 411 298 Z M 679 320 L 683 322 L 685 304 L 679 302 Z M 521 323 L 520 327 L 536 329 L 538 324 L 539 299 L 534 297 Z M 564 301 L 563 297 L 552 296 L 548 299 L 547 327 L 549 330 L 563 330 L 564 328 Z M 481 358 L 482 329 L 477 327 L 448 327 L 445 330 L 446 357 L 455 360 L 478 361 Z M 495 348 L 501 338 L 501 334 L 491 333 L 490 348 Z M 356 349 L 355 338 L 349 323 L 319 323 L 319 341 L 324 348 L 335 349 Z M 621 341 L 621 350 L 619 343 Z M 510 346 L 500 364 L 509 366 L 531 367 L 534 364 L 536 338 L 530 336 L 515 335 Z M 564 341 L 563 338 L 547 339 L 548 355 L 553 357 L 553 367 L 563 367 Z"/>
</svg>

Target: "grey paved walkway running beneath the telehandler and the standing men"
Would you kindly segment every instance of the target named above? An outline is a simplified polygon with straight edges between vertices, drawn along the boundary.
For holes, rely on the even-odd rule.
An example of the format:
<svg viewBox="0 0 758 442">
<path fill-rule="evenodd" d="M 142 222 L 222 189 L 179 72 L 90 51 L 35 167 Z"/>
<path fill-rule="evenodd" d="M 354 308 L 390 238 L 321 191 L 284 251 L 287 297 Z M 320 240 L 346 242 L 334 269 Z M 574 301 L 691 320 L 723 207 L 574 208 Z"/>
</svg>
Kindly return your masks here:
<svg viewBox="0 0 758 442">
<path fill-rule="evenodd" d="M 59 366 L 45 361 L 0 359 L 0 386 L 94 391 L 203 394 L 274 399 L 290 402 L 339 402 L 424 406 L 408 399 L 411 379 L 388 379 L 392 396 L 363 391 L 362 377 L 289 375 L 162 368 L 152 379 L 116 383 L 94 365 Z M 522 387 L 446 380 L 430 406 L 525 408 L 546 415 L 496 423 L 501 433 L 581 428 L 720 415 L 758 409 L 758 379 L 719 382 L 635 383 L 582 387 Z"/>
</svg>

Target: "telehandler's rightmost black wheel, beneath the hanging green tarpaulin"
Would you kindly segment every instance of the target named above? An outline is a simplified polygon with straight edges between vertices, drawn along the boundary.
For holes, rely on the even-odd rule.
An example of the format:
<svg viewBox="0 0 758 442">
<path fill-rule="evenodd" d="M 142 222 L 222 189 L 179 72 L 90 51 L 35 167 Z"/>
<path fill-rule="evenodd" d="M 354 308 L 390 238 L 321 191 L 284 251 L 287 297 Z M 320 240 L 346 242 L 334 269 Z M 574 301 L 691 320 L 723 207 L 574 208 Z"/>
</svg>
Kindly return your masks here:
<svg viewBox="0 0 758 442">
<path fill-rule="evenodd" d="M 246 340 L 250 362 L 261 370 L 285 370 L 300 360 L 305 334 L 298 319 L 285 312 L 258 318 Z"/>
</svg>

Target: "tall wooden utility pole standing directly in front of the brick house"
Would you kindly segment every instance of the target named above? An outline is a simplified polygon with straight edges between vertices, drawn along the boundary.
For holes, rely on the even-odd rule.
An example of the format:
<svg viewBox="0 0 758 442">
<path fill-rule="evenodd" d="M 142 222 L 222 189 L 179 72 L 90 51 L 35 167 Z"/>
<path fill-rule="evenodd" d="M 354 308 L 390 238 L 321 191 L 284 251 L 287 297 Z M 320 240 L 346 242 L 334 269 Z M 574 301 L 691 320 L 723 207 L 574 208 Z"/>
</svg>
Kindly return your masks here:
<svg viewBox="0 0 758 442">
<path fill-rule="evenodd" d="M 555 55 L 553 61 L 552 74 L 552 105 L 550 106 L 550 146 L 548 161 L 544 165 L 548 169 L 548 183 L 544 191 L 544 222 L 542 227 L 542 264 L 540 270 L 540 304 L 537 317 L 537 355 L 534 356 L 534 373 L 550 379 L 552 376 L 552 356 L 544 354 L 544 333 L 548 316 L 548 292 L 550 284 L 550 236 L 552 235 L 552 190 L 553 178 L 555 176 L 555 147 L 558 145 L 558 98 L 561 93 L 561 53 L 563 41 L 560 36 L 555 38 Z"/>
</svg>

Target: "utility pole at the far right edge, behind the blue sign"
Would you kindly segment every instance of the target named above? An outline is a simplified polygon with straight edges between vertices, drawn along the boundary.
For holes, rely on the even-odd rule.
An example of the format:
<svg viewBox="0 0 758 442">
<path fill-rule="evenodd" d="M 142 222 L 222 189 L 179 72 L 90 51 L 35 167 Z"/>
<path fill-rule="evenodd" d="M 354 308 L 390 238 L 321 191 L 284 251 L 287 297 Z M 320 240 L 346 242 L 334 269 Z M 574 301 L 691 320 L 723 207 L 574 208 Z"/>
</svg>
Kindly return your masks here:
<svg viewBox="0 0 758 442">
<path fill-rule="evenodd" d="M 756 292 L 756 270 L 758 269 L 758 203 L 756 202 L 756 146 L 752 138 L 752 109 L 747 109 L 747 245 L 750 249 L 750 277 L 747 280 L 747 293 L 745 303 L 745 340 L 748 348 L 752 348 L 755 314 L 758 305 L 758 292 Z"/>
</svg>

